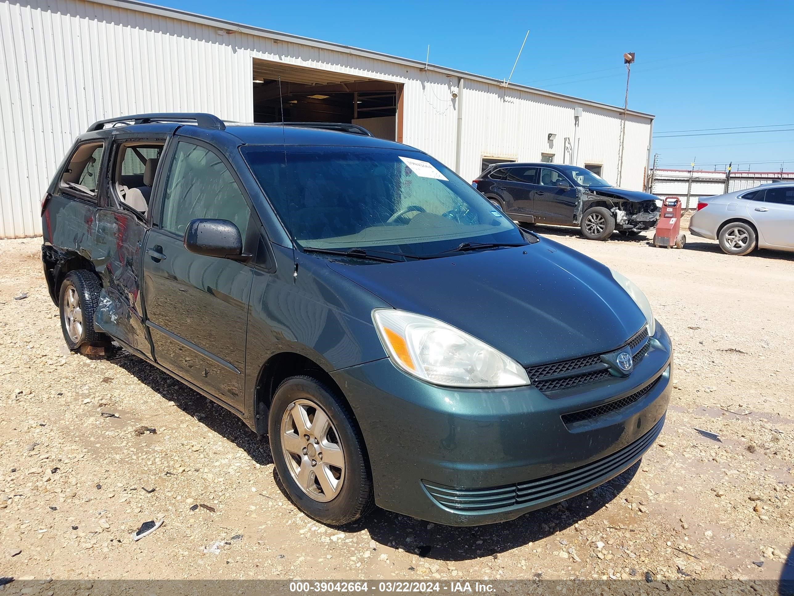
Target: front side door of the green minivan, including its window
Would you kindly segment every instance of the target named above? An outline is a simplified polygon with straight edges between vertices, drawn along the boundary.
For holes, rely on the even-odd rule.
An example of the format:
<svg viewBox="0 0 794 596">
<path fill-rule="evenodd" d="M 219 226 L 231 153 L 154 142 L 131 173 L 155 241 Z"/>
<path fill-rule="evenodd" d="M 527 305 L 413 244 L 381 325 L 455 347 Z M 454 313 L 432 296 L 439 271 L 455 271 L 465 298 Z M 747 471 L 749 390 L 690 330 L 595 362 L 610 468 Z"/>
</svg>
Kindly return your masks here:
<svg viewBox="0 0 794 596">
<path fill-rule="evenodd" d="M 192 219 L 226 219 L 256 246 L 249 203 L 231 168 L 208 147 L 179 141 L 146 240 L 144 300 L 156 362 L 244 410 L 245 332 L 252 266 L 189 252 Z M 249 231 L 251 234 L 249 234 Z"/>
</svg>

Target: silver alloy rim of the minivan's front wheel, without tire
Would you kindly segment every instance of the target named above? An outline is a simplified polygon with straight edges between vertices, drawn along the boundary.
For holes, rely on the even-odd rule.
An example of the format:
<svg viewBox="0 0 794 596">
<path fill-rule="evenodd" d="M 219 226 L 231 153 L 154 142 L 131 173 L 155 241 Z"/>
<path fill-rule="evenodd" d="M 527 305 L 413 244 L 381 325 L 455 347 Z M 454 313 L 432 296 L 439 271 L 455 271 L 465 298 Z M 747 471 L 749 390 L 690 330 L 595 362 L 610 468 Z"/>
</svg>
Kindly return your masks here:
<svg viewBox="0 0 794 596">
<path fill-rule="evenodd" d="M 337 429 L 318 404 L 296 400 L 281 421 L 281 450 L 292 478 L 314 501 L 330 501 L 345 482 Z"/>
</svg>

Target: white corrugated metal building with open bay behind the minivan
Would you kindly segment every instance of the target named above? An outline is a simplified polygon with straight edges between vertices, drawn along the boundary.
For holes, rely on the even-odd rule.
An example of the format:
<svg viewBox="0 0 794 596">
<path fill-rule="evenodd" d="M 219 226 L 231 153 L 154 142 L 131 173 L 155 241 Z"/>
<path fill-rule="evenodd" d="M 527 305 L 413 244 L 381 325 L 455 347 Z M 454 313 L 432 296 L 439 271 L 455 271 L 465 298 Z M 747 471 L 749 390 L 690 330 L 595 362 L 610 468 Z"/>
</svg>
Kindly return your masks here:
<svg viewBox="0 0 794 596">
<path fill-rule="evenodd" d="M 283 102 L 287 120 L 359 123 L 468 180 L 495 160 L 618 176 L 622 108 L 133 0 L 0 2 L 0 69 L 0 238 L 41 233 L 75 136 L 122 114 L 273 122 Z M 643 187 L 652 123 L 627 114 L 623 187 Z"/>
</svg>

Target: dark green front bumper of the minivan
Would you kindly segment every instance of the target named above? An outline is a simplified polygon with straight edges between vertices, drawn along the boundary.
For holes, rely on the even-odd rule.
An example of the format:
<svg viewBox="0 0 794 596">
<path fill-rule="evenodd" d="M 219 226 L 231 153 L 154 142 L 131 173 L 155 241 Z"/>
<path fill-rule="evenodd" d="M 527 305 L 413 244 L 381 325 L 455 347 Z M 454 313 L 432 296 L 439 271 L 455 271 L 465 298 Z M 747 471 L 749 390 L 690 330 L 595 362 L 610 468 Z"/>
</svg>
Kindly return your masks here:
<svg viewBox="0 0 794 596">
<path fill-rule="evenodd" d="M 387 358 L 332 376 L 364 435 L 377 505 L 441 524 L 489 524 L 584 493 L 637 462 L 664 424 L 673 348 L 657 323 L 629 377 L 565 397 L 531 386 L 437 387 Z M 563 421 L 604 405 L 588 420 Z"/>
</svg>

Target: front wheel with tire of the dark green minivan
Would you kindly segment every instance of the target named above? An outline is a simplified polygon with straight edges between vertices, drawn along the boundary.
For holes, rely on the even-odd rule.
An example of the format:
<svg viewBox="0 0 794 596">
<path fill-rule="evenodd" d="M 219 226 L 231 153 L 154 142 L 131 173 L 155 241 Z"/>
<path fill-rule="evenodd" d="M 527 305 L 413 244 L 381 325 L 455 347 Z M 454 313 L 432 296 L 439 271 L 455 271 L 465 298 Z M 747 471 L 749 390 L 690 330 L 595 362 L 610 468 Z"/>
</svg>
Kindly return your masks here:
<svg viewBox="0 0 794 596">
<path fill-rule="evenodd" d="M 283 381 L 268 420 L 273 463 L 295 505 L 323 524 L 356 521 L 372 508 L 364 440 L 344 401 L 311 377 Z"/>
</svg>

